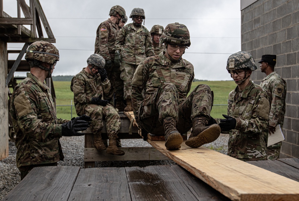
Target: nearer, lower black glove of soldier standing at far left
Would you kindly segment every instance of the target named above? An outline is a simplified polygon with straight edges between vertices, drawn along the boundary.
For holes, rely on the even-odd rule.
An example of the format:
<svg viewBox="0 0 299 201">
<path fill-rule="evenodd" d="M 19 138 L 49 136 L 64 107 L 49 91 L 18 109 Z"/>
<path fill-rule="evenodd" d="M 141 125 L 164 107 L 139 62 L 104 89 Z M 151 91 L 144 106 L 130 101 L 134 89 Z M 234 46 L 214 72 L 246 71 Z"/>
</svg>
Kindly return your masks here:
<svg viewBox="0 0 299 201">
<path fill-rule="evenodd" d="M 84 120 L 71 120 L 64 124 L 61 124 L 61 134 L 62 136 L 81 136 L 85 133 L 78 133 L 78 131 L 86 130 L 89 125 L 87 121 Z"/>
</svg>

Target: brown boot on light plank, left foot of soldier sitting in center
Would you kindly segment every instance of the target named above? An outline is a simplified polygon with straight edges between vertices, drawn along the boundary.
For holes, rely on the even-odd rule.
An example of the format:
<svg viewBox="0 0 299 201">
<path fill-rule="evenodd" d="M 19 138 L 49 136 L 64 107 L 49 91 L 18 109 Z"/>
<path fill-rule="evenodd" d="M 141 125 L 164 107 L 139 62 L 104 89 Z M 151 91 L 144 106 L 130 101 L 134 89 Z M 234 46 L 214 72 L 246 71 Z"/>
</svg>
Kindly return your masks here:
<svg viewBox="0 0 299 201">
<path fill-rule="evenodd" d="M 183 142 L 182 135 L 177 131 L 175 127 L 176 123 L 174 118 L 166 117 L 163 120 L 163 126 L 165 130 L 165 147 L 167 150 L 174 150 L 181 148 Z"/>
</svg>

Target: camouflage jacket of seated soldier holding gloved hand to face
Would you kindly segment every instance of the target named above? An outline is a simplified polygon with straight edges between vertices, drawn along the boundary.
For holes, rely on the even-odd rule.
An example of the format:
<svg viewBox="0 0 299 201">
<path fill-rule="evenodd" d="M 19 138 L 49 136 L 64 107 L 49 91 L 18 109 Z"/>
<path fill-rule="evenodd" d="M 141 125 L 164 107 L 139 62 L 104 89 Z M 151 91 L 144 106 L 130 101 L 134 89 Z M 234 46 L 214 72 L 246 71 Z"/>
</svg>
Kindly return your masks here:
<svg viewBox="0 0 299 201">
<path fill-rule="evenodd" d="M 110 90 L 110 81 L 101 82 L 100 74 L 94 76 L 82 69 L 82 71 L 73 77 L 71 82 L 71 90 L 74 92 L 74 104 L 76 112 L 79 116 L 85 114 L 85 107 L 91 104 L 92 97 L 103 96 Z"/>
</svg>

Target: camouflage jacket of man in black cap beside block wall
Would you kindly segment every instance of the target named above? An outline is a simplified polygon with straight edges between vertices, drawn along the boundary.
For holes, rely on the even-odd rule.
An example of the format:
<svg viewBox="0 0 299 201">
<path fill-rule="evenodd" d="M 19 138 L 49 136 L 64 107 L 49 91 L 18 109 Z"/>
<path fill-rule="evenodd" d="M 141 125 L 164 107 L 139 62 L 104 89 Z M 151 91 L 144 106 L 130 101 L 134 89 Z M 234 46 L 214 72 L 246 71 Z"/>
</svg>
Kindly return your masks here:
<svg viewBox="0 0 299 201">
<path fill-rule="evenodd" d="M 262 80 L 260 86 L 268 92 L 271 101 L 269 126 L 280 124 L 282 127 L 286 112 L 286 81 L 274 71 Z"/>
</svg>

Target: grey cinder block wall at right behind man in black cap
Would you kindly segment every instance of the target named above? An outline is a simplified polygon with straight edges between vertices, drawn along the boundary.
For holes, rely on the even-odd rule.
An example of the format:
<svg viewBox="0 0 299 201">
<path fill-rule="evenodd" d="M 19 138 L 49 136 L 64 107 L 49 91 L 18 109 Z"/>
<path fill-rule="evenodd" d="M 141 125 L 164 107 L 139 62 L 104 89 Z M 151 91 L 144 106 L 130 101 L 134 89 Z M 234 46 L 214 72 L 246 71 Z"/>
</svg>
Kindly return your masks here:
<svg viewBox="0 0 299 201">
<path fill-rule="evenodd" d="M 299 1 L 258 0 L 241 10 L 241 48 L 252 54 L 258 70 L 254 83 L 265 77 L 257 63 L 263 54 L 276 54 L 274 68 L 287 83 L 280 158 L 299 158 Z"/>
</svg>

